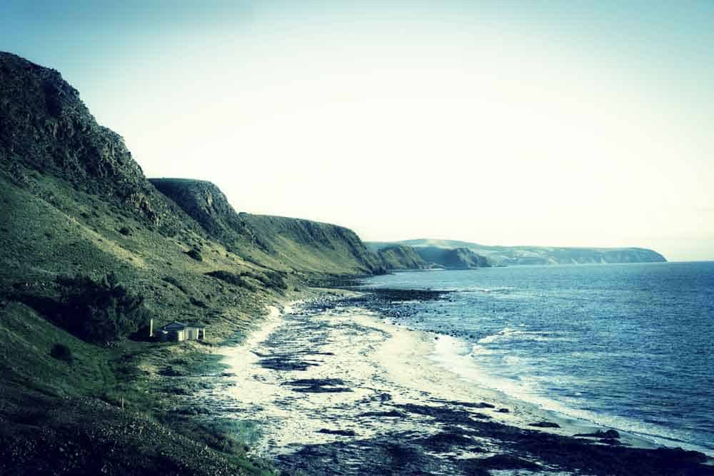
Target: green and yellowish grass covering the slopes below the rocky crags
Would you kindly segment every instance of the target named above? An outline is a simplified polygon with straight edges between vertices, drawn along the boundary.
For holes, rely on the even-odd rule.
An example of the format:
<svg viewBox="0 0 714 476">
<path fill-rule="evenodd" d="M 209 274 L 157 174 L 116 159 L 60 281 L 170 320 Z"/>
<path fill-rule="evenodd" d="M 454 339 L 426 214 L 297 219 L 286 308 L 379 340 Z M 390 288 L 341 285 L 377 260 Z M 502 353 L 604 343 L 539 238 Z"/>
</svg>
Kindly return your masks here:
<svg viewBox="0 0 714 476">
<path fill-rule="evenodd" d="M 58 464 L 68 465 L 71 461 L 67 460 L 66 453 L 59 452 L 64 440 L 85 435 L 84 450 L 95 445 L 101 447 L 102 440 L 92 428 L 104 427 L 103 422 L 111 426 L 114 411 L 121 408 L 122 402 L 125 412 L 135 415 L 129 419 L 134 423 L 126 424 L 153 422 L 152 425 L 159 425 L 152 427 L 156 429 L 157 446 L 150 454 L 164 452 L 174 455 L 173 462 L 181 460 L 176 456 L 176 447 L 191 446 L 196 438 L 201 440 L 198 437 L 201 432 L 192 431 L 192 423 L 183 417 L 177 422 L 167 417 L 175 406 L 176 390 L 167 391 L 156 369 L 166 360 L 180 356 L 181 363 L 174 365 L 188 375 L 222 371 L 217 358 L 206 350 L 211 342 L 220 342 L 241 328 L 247 329 L 247 317 L 261 315 L 263 303 L 273 299 L 271 290 L 256 289 L 251 293 L 204 275 L 226 268 L 238 273 L 258 270 L 191 227 L 167 238 L 132 218 L 131 213 L 126 216 L 121 208 L 77 191 L 59 178 L 35 174 L 31 181 L 34 181 L 32 193 L 28 188 L 11 183 L 0 170 L 0 205 L 4 214 L 0 224 L 0 333 L 4 336 L 0 349 L 3 375 L 0 420 L 4 421 L 0 425 L 3 427 L 0 459 L 5 461 L 0 463 L 0 472 L 16 470 L 16 467 L 3 469 L 1 466 L 13 462 L 24 461 L 24 471 L 39 464 L 43 457 L 39 453 L 31 460 L 9 453 L 17 449 L 20 442 L 24 442 L 26 448 L 44 447 L 47 454 L 56 457 Z M 125 227 L 131 232 L 125 233 L 122 230 Z M 203 256 L 201 262 L 185 253 L 198 245 Z M 206 325 L 211 342 L 203 348 L 131 340 L 121 340 L 109 348 L 94 345 L 53 325 L 48 315 L 16 299 L 23 294 L 58 300 L 61 288 L 56 283 L 57 275 L 86 274 L 99 279 L 107 273 L 114 273 L 129 292 L 144 298 L 154 325 L 174 319 L 201 323 Z M 58 352 L 58 349 L 62 350 Z M 108 406 L 91 411 L 71 407 L 70 402 L 84 402 L 81 399 L 86 397 L 99 399 Z M 91 417 L 91 422 L 87 417 Z M 32 425 L 27 427 L 29 422 Z M 179 427 L 185 430 L 182 435 L 185 443 L 178 445 L 171 438 L 159 437 L 163 435 L 161 427 L 169 431 Z M 24 428 L 34 430 L 26 432 Z M 45 442 L 36 439 L 39 428 L 43 428 L 43 435 L 49 435 Z M 126 438 L 127 447 L 142 445 L 141 440 Z M 233 450 L 240 447 L 243 443 L 235 438 L 235 442 L 224 446 Z M 203 440 L 195 444 L 200 448 L 206 446 Z M 131 467 L 134 462 L 130 455 L 131 452 L 127 452 L 126 458 L 120 458 L 121 462 L 116 464 Z M 146 454 L 139 460 L 144 458 L 149 467 L 156 464 L 146 460 L 147 457 L 151 459 Z M 102 458 L 107 459 L 97 456 L 98 460 Z M 240 474 L 271 471 L 269 465 L 251 461 L 244 451 L 216 452 L 215 458 Z M 211 464 L 201 463 L 205 467 Z M 170 467 L 169 462 L 166 465 Z M 197 468 L 197 464 L 193 465 L 194 470 Z M 36 469 L 42 472 L 42 468 Z"/>
</svg>

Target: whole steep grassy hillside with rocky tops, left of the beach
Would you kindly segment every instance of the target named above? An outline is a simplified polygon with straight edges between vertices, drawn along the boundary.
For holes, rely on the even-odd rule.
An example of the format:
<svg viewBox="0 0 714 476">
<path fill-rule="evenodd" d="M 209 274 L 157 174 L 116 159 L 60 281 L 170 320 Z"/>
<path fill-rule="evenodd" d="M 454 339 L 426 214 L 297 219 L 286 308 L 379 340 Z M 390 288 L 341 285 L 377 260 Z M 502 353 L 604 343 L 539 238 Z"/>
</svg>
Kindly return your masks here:
<svg viewBox="0 0 714 476">
<path fill-rule="evenodd" d="M 201 182 L 167 197 L 58 72 L 6 53 L 0 112 L 0 474 L 268 472 L 240 422 L 186 417 L 188 383 L 161 373 L 219 371 L 211 348 L 306 274 L 370 273 L 376 258 L 345 228 L 243 219 Z M 147 341 L 149 319 L 208 340 Z"/>
</svg>

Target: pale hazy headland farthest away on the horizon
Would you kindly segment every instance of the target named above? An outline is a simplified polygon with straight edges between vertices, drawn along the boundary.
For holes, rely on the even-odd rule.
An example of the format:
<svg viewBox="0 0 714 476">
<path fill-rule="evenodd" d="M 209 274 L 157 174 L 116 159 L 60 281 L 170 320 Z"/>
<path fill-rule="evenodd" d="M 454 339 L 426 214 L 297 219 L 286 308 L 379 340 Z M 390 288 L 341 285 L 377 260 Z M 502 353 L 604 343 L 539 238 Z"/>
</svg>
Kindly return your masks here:
<svg viewBox="0 0 714 476">
<path fill-rule="evenodd" d="M 663 255 L 647 248 L 567 248 L 548 246 L 490 246 L 468 241 L 417 239 L 394 243 L 367 243 L 371 249 L 394 244 L 408 245 L 417 253 L 439 248 L 450 250 L 466 248 L 485 256 L 493 265 L 569 265 L 609 263 L 656 263 L 666 261 Z M 433 251 L 428 251 L 433 253 Z M 425 258 L 428 260 L 428 258 Z"/>
</svg>

